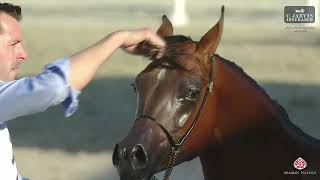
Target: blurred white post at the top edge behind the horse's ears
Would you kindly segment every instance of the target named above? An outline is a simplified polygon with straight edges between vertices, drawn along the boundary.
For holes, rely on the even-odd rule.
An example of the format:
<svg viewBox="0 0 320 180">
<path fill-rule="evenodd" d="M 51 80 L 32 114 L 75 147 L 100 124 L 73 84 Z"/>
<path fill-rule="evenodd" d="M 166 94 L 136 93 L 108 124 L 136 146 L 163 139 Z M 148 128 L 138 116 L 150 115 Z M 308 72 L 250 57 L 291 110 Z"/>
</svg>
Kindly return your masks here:
<svg viewBox="0 0 320 180">
<path fill-rule="evenodd" d="M 173 12 L 171 20 L 174 26 L 182 27 L 189 23 L 189 17 L 186 11 L 185 0 L 174 0 Z"/>
</svg>

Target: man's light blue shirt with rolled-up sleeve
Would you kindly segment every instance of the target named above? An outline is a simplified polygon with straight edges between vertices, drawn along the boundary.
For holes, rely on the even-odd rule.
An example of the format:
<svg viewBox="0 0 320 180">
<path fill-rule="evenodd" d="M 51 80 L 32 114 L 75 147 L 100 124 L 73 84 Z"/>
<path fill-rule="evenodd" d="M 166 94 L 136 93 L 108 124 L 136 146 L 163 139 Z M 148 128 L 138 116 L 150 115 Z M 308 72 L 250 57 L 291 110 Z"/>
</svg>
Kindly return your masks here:
<svg viewBox="0 0 320 180">
<path fill-rule="evenodd" d="M 61 59 L 46 65 L 38 75 L 10 82 L 0 81 L 1 180 L 21 179 L 14 162 L 6 121 L 42 112 L 58 104 L 62 104 L 66 117 L 77 110 L 80 92 L 70 87 L 69 69 L 70 61 Z"/>
</svg>

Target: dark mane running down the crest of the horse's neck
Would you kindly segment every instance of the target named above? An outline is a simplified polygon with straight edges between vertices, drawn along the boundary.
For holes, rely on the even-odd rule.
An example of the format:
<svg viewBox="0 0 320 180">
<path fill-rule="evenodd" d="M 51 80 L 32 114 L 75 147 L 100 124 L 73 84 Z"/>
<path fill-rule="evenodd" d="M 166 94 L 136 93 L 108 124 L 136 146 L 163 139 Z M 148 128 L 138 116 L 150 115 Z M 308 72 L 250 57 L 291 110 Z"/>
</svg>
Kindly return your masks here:
<svg viewBox="0 0 320 180">
<path fill-rule="evenodd" d="M 223 63 L 230 66 L 232 69 L 236 70 L 240 73 L 245 79 L 248 80 L 248 82 L 253 85 L 258 91 L 260 91 L 263 96 L 265 96 L 270 102 L 272 103 L 272 106 L 275 107 L 275 116 L 277 120 L 279 120 L 281 127 L 287 130 L 287 133 L 294 138 L 295 140 L 298 140 L 300 144 L 303 146 L 308 147 L 315 147 L 320 150 L 320 140 L 306 134 L 304 131 L 302 131 L 298 126 L 296 126 L 289 118 L 289 115 L 286 111 L 286 109 L 276 100 L 271 98 L 271 96 L 265 91 L 263 87 L 261 87 L 257 81 L 255 81 L 253 78 L 251 78 L 240 66 L 238 66 L 236 63 L 226 60 L 223 57 L 215 54 L 214 56 L 218 57 Z"/>
</svg>

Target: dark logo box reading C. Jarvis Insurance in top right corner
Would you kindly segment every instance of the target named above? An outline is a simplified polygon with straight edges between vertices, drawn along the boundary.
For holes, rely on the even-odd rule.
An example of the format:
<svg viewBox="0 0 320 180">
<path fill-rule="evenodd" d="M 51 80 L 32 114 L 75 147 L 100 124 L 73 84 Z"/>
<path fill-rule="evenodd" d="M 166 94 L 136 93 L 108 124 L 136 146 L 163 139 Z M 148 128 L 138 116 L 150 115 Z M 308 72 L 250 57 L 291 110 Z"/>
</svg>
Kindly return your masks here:
<svg viewBox="0 0 320 180">
<path fill-rule="evenodd" d="M 314 6 L 285 6 L 284 22 L 285 23 L 314 23 L 315 8 Z"/>
</svg>

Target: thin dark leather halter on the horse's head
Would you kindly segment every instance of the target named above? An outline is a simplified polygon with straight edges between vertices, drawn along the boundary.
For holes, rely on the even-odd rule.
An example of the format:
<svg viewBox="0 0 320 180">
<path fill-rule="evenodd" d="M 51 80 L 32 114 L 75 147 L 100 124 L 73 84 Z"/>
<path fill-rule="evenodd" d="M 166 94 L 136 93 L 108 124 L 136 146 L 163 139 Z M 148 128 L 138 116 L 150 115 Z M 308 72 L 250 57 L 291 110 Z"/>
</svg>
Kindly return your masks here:
<svg viewBox="0 0 320 180">
<path fill-rule="evenodd" d="M 171 155 L 170 155 L 169 163 L 168 163 L 168 166 L 167 166 L 164 178 L 163 178 L 164 180 L 169 179 L 169 176 L 173 170 L 176 159 L 178 157 L 178 153 L 180 152 L 180 148 L 181 148 L 182 144 L 185 142 L 185 140 L 187 139 L 187 137 L 190 135 L 192 130 L 194 129 L 195 125 L 197 124 L 197 122 L 200 118 L 200 115 L 203 112 L 204 106 L 206 104 L 207 97 L 208 97 L 209 93 L 211 93 L 213 90 L 213 67 L 212 66 L 214 65 L 214 61 L 215 61 L 215 58 L 213 55 L 213 56 L 211 56 L 211 60 L 210 60 L 209 81 L 208 81 L 206 91 L 205 91 L 204 97 L 202 99 L 200 108 L 199 108 L 199 110 L 196 114 L 196 117 L 193 120 L 191 126 L 189 127 L 188 131 L 186 131 L 186 133 L 182 136 L 182 138 L 178 142 L 175 142 L 175 140 L 174 140 L 173 136 L 170 134 L 170 132 L 157 119 L 155 119 L 149 115 L 141 115 L 138 118 L 136 118 L 136 120 L 135 120 L 135 121 L 137 121 L 138 119 L 141 119 L 141 118 L 151 120 L 152 122 L 154 122 L 157 126 L 159 126 L 161 128 L 161 130 L 166 134 L 167 139 L 169 140 L 169 143 L 171 146 Z M 156 179 L 156 178 L 153 176 L 152 179 Z"/>
</svg>

